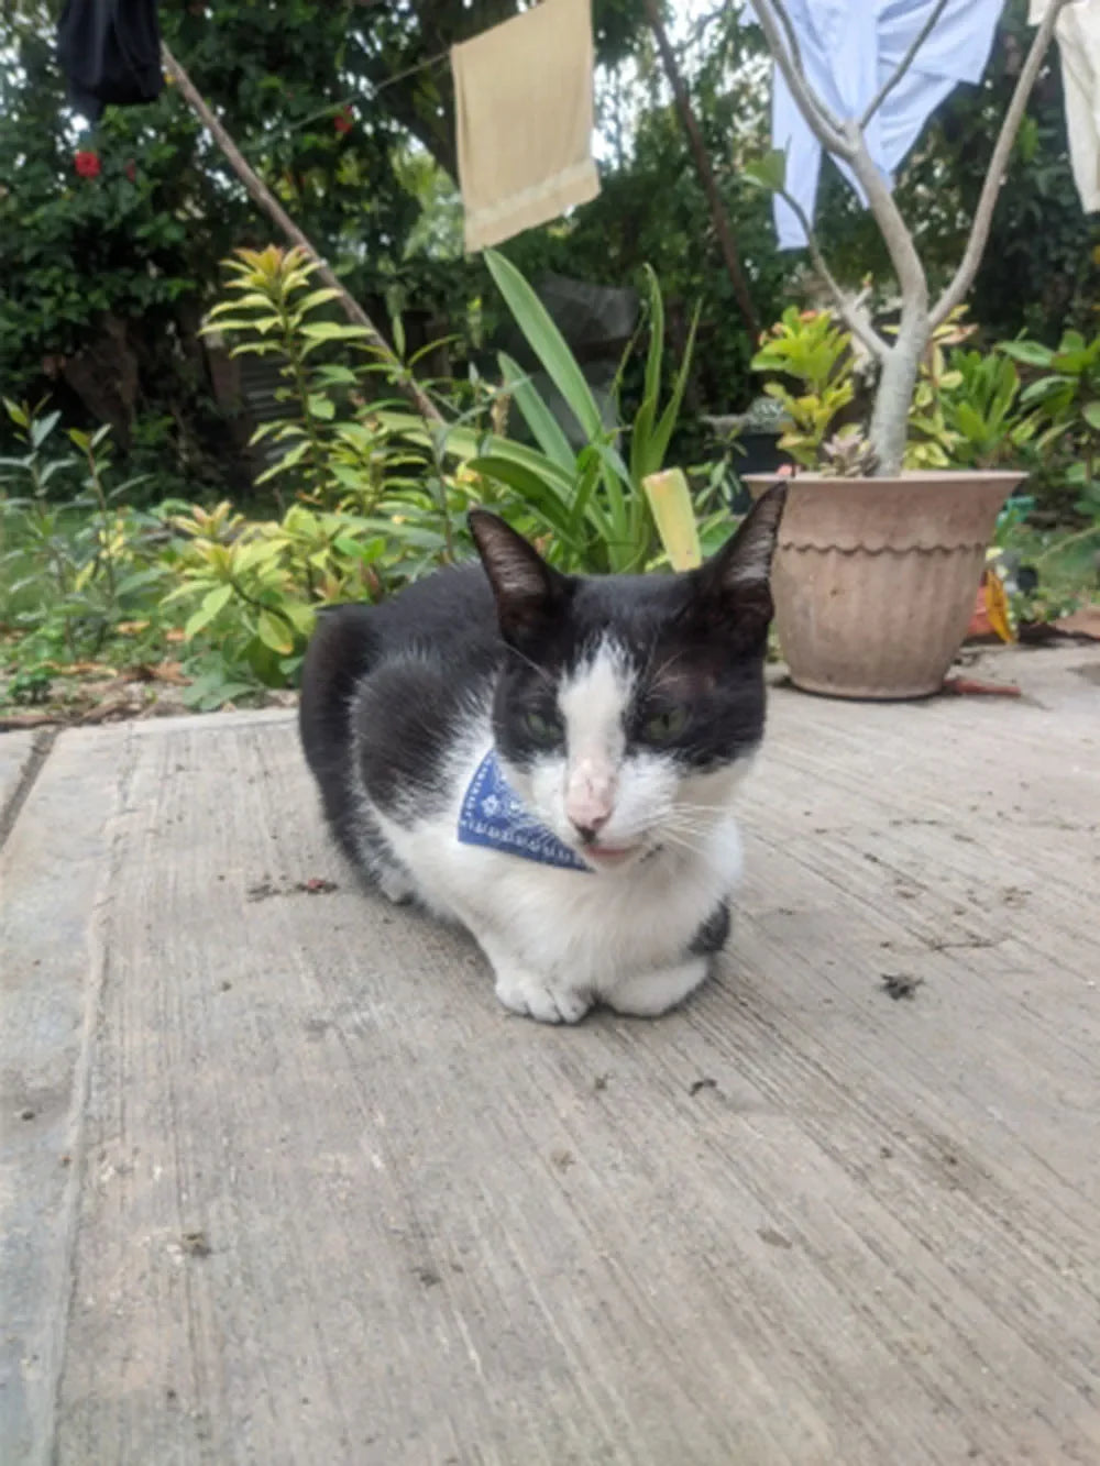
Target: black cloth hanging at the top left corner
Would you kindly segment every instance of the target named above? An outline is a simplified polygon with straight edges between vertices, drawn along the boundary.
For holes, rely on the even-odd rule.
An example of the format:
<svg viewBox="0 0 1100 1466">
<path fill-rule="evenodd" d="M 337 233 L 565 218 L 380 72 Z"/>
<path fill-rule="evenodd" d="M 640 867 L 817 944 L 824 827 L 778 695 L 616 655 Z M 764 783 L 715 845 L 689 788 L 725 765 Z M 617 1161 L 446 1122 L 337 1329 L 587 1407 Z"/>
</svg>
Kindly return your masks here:
<svg viewBox="0 0 1100 1466">
<path fill-rule="evenodd" d="M 91 122 L 107 103 L 155 101 L 164 85 L 157 0 L 66 0 L 57 22 L 57 60 L 69 101 Z"/>
</svg>

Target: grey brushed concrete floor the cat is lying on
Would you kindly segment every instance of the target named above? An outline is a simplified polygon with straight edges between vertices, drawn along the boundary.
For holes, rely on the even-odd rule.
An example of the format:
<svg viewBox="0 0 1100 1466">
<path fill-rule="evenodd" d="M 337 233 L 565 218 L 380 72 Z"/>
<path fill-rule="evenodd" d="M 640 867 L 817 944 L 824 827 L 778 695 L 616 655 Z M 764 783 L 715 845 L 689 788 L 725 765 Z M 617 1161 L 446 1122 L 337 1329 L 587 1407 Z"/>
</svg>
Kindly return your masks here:
<svg viewBox="0 0 1100 1466">
<path fill-rule="evenodd" d="M 776 692 L 717 981 L 569 1031 L 286 714 L 0 739 L 4 1463 L 1100 1462 L 1100 655 L 994 670 Z"/>
</svg>

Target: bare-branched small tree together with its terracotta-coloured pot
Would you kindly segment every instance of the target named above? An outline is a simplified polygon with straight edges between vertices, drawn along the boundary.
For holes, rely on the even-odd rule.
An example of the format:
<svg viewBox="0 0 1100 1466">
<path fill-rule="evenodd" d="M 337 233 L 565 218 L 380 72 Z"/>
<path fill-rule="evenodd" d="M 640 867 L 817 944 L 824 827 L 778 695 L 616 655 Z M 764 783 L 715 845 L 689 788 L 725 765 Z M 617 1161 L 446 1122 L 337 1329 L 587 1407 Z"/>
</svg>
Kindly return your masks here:
<svg viewBox="0 0 1100 1466">
<path fill-rule="evenodd" d="M 914 236 L 871 160 L 865 129 L 912 66 L 945 3 L 931 6 L 914 45 L 864 114 L 840 119 L 807 81 L 783 0 L 752 0 L 808 126 L 858 179 L 901 296 L 898 327 L 887 337 L 829 270 L 810 220 L 785 189 L 783 154 L 771 152 L 754 167 L 757 182 L 795 210 L 839 317 L 879 368 L 867 437 L 852 431 L 829 443 L 821 437 L 815 471 L 799 472 L 792 482 L 773 570 L 776 622 L 791 677 L 796 686 L 833 696 L 917 698 L 939 690 L 967 632 L 997 513 L 1022 478 L 999 469 L 906 471 L 906 438 L 921 364 L 977 273 L 1012 144 L 1066 0 L 1055 0 L 1035 31 L 990 155 L 964 257 L 931 301 Z M 836 397 L 836 378 L 826 372 L 821 390 Z M 751 487 L 761 491 L 771 482 L 774 476 Z"/>
</svg>

